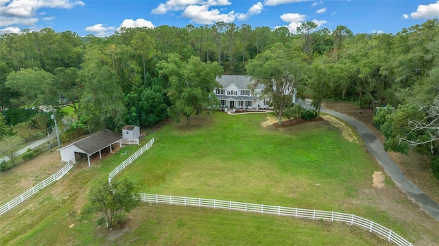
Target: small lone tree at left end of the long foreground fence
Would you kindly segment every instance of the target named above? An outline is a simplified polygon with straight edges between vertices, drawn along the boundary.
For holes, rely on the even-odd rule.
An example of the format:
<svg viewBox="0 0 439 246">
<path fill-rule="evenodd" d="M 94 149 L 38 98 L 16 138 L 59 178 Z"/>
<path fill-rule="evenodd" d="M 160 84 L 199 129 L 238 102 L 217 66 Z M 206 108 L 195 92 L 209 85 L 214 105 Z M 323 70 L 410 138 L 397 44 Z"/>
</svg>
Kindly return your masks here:
<svg viewBox="0 0 439 246">
<path fill-rule="evenodd" d="M 127 178 L 105 182 L 91 187 L 88 195 L 88 208 L 102 213 L 101 222 L 107 227 L 121 226 L 126 221 L 126 214 L 139 205 L 136 195 L 139 185 Z"/>
</svg>

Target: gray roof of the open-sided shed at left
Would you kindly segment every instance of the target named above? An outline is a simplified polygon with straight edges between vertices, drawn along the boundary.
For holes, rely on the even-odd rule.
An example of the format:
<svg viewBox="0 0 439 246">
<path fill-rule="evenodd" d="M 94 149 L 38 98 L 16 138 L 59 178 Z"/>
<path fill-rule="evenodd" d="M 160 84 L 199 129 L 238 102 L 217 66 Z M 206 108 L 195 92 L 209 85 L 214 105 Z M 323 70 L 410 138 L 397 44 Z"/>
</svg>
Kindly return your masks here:
<svg viewBox="0 0 439 246">
<path fill-rule="evenodd" d="M 96 153 L 97 151 L 104 149 L 113 143 L 121 140 L 121 136 L 111 132 L 106 129 L 104 131 L 98 132 L 97 134 L 93 134 L 86 138 L 83 138 L 71 145 L 78 147 L 84 153 L 88 153 L 89 155 Z"/>
</svg>

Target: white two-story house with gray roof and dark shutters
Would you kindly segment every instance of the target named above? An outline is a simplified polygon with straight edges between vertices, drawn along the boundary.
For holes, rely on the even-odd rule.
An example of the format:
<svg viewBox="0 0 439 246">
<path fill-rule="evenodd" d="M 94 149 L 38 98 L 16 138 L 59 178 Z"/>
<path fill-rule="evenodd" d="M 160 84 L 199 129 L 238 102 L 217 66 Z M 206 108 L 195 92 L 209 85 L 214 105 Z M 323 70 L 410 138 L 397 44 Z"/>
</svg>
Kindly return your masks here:
<svg viewBox="0 0 439 246">
<path fill-rule="evenodd" d="M 222 108 L 239 108 L 243 110 L 269 108 L 268 100 L 259 97 L 263 85 L 259 84 L 254 92 L 250 90 L 252 77 L 244 75 L 222 75 L 216 78 L 222 88 L 215 88 L 214 93 Z"/>
</svg>

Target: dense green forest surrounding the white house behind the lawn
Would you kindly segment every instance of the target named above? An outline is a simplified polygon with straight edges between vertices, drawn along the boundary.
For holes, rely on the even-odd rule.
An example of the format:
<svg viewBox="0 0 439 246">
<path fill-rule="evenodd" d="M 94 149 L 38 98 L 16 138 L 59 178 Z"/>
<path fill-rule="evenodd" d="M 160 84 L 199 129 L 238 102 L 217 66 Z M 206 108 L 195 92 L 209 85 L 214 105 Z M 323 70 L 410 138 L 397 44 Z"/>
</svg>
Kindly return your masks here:
<svg viewBox="0 0 439 246">
<path fill-rule="evenodd" d="M 291 79 L 316 110 L 327 100 L 377 108 L 385 149 L 429 155 L 439 178 L 439 20 L 396 34 L 353 34 L 312 22 L 297 31 L 219 22 L 122 28 L 108 38 L 50 28 L 3 34 L 0 140 L 40 106 L 60 116 L 68 106 L 72 127 L 90 133 L 189 120 L 215 104 L 217 75 L 251 75 Z"/>
</svg>

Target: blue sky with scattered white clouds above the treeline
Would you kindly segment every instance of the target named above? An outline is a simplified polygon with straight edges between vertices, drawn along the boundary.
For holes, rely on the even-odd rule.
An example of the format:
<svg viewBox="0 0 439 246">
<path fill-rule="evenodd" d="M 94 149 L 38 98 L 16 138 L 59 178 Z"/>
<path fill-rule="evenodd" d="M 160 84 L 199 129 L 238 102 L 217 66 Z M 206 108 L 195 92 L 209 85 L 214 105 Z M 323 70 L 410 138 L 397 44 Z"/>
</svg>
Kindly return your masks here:
<svg viewBox="0 0 439 246">
<path fill-rule="evenodd" d="M 212 25 L 218 21 L 255 27 L 318 28 L 345 25 L 359 33 L 396 34 L 439 19 L 438 0 L 0 0 L 0 34 L 23 29 L 111 36 L 121 27 Z"/>
</svg>

